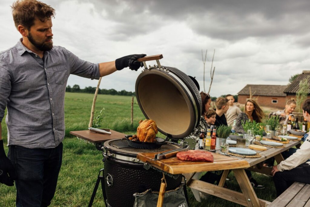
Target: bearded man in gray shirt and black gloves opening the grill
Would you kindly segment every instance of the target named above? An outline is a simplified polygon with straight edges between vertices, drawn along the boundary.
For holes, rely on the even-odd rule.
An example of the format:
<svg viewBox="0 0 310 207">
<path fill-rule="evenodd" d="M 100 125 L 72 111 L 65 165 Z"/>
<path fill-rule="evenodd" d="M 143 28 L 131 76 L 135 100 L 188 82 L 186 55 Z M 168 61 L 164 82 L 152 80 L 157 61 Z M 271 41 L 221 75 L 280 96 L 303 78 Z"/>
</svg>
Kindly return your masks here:
<svg viewBox="0 0 310 207">
<path fill-rule="evenodd" d="M 83 61 L 53 46 L 55 10 L 37 0 L 12 5 L 18 43 L 0 52 L 0 182 L 13 186 L 16 206 L 48 206 L 54 196 L 62 162 L 64 94 L 69 74 L 99 79 L 128 67 L 138 70 L 129 55 L 111 62 Z M 8 156 L 1 137 L 7 107 Z"/>
</svg>

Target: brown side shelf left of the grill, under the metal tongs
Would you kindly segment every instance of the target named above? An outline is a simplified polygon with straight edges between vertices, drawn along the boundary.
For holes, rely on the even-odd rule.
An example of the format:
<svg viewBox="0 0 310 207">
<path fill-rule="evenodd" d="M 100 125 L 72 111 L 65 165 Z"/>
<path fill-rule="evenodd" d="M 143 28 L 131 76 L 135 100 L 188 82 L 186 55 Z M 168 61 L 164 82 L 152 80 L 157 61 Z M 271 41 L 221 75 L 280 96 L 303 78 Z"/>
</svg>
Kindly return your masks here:
<svg viewBox="0 0 310 207">
<path fill-rule="evenodd" d="M 111 139 L 125 138 L 126 134 L 110 130 L 111 135 L 91 132 L 89 130 L 72 131 L 70 134 L 85 139 L 92 143 L 101 143 Z"/>
</svg>

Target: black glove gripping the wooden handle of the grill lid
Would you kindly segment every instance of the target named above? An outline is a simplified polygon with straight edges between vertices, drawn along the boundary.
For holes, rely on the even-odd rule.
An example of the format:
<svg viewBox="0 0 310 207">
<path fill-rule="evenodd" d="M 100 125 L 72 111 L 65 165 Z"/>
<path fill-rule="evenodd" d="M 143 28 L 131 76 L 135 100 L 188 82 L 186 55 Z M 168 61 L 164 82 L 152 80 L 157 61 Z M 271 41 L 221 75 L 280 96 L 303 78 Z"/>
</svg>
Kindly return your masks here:
<svg viewBox="0 0 310 207">
<path fill-rule="evenodd" d="M 122 70 L 129 66 L 129 69 L 137 71 L 143 66 L 142 62 L 137 61 L 137 59 L 146 56 L 145 54 L 134 54 L 127 55 L 115 60 L 115 67 L 117 70 Z"/>
</svg>

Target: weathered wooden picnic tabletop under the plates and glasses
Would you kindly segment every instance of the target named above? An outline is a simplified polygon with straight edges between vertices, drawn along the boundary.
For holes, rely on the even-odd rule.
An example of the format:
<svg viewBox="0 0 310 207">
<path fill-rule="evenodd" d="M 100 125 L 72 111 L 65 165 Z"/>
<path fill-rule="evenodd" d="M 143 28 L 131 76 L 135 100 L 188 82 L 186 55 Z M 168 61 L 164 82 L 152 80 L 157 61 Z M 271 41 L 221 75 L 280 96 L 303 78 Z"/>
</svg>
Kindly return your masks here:
<svg viewBox="0 0 310 207">
<path fill-rule="evenodd" d="M 254 150 L 256 152 L 258 152 L 260 155 L 262 155 L 260 158 L 242 158 L 242 157 L 237 157 L 237 156 L 231 156 L 232 158 L 236 158 L 236 159 L 240 159 L 240 160 L 245 160 L 247 161 L 250 166 L 253 166 L 255 164 L 258 164 L 260 162 L 263 162 L 264 160 L 267 160 L 275 155 L 280 154 L 281 152 L 284 152 L 288 149 L 290 149 L 293 146 L 296 146 L 300 144 L 300 141 L 290 141 L 290 143 L 285 144 L 284 148 L 275 148 L 275 147 L 267 147 L 266 151 L 260 151 L 260 150 Z M 246 149 L 249 149 L 248 147 L 246 147 Z M 253 150 L 253 149 L 251 149 Z M 216 152 L 219 153 L 219 150 L 217 150 Z"/>
</svg>

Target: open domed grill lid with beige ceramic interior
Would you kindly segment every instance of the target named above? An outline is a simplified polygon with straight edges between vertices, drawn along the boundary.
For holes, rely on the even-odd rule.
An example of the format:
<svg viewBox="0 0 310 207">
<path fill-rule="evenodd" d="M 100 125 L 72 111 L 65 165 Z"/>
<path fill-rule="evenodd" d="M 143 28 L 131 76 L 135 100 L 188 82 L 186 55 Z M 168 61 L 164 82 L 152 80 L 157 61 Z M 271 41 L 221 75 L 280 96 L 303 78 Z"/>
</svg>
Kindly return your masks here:
<svg viewBox="0 0 310 207">
<path fill-rule="evenodd" d="M 183 139 L 199 125 L 201 97 L 193 80 L 173 67 L 154 65 L 135 83 L 138 104 L 147 119 L 169 138 Z"/>
</svg>

